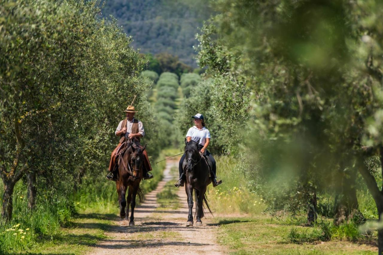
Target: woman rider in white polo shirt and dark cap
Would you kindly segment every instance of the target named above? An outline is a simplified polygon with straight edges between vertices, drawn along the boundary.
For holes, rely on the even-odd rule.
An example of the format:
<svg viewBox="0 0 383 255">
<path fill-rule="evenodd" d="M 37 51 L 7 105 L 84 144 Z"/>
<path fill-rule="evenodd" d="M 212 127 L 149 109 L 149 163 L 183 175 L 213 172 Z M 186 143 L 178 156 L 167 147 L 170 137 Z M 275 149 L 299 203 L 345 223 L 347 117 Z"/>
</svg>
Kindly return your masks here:
<svg viewBox="0 0 383 255">
<path fill-rule="evenodd" d="M 190 127 L 187 134 L 186 134 L 186 140 L 187 142 L 194 141 L 198 142 L 198 150 L 207 157 L 210 158 L 211 162 L 213 163 L 213 167 L 211 169 L 211 181 L 213 183 L 213 187 L 219 185 L 222 183 L 221 180 L 216 180 L 216 162 L 213 158 L 213 155 L 210 154 L 210 152 L 206 149 L 210 142 L 210 132 L 205 127 L 205 121 L 203 119 L 203 115 L 200 113 L 195 114 L 195 116 L 191 117 L 194 119 L 195 126 Z M 175 183 L 174 186 L 179 187 L 184 185 L 185 177 L 182 177 L 183 173 L 183 161 L 185 160 L 186 154 L 183 154 L 180 163 L 178 164 L 178 171 L 180 172 L 180 179 Z M 182 178 L 181 178 L 182 177 Z"/>
</svg>

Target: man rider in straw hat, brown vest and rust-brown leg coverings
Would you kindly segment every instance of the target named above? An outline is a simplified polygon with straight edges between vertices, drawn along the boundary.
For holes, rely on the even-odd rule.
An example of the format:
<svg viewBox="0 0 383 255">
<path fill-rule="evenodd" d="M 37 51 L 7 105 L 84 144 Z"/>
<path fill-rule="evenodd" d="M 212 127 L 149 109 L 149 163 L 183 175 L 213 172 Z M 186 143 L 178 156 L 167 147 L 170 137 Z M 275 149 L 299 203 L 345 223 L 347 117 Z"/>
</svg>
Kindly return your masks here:
<svg viewBox="0 0 383 255">
<path fill-rule="evenodd" d="M 116 157 L 118 155 L 118 152 L 122 150 L 122 147 L 126 144 L 124 143 L 124 141 L 126 141 L 127 139 L 136 139 L 140 141 L 140 138 L 145 135 L 142 122 L 134 118 L 134 114 L 136 113 L 136 109 L 134 108 L 134 106 L 129 105 L 124 112 L 126 112 L 126 119 L 120 121 L 115 131 L 116 136 L 119 136 L 121 138 L 119 144 L 112 152 L 108 169 L 110 173 L 106 175 L 106 178 L 112 181 L 117 180 L 118 167 L 116 166 Z M 144 167 L 142 169 L 144 177 L 143 179 L 147 180 L 153 178 L 153 175 L 149 172 L 152 170 L 152 167 L 150 165 L 149 157 L 147 155 L 146 150 L 144 150 L 143 153 L 145 156 Z"/>
</svg>

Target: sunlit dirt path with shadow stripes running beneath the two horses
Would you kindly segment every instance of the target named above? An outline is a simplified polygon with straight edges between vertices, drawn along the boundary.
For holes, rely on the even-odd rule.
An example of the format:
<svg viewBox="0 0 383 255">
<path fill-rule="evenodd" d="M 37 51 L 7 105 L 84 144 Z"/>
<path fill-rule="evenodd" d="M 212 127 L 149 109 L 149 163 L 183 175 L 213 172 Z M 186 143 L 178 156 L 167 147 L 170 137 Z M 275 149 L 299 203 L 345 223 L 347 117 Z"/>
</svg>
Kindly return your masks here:
<svg viewBox="0 0 383 255">
<path fill-rule="evenodd" d="M 177 195 L 181 206 L 178 209 L 158 209 L 156 195 L 167 181 L 173 179 L 170 169 L 177 166 L 176 160 L 167 162 L 164 179 L 157 188 L 145 196 L 145 202 L 134 211 L 136 226 L 116 220 L 106 235 L 111 239 L 100 242 L 90 254 L 223 254 L 224 248 L 216 241 L 217 226 L 211 214 L 206 215 L 202 227 L 186 227 L 188 205 L 185 189 L 180 187 Z M 193 208 L 194 213 L 195 208 Z"/>
</svg>

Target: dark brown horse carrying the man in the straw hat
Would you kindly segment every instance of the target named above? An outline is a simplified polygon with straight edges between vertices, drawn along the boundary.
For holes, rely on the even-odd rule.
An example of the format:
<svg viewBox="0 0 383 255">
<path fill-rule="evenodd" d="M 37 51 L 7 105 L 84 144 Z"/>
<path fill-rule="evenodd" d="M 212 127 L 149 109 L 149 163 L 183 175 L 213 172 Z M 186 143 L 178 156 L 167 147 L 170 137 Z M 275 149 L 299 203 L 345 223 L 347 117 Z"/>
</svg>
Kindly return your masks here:
<svg viewBox="0 0 383 255">
<path fill-rule="evenodd" d="M 140 201 L 142 200 L 142 191 L 140 182 L 142 180 L 142 164 L 144 162 L 143 151 L 145 147 L 141 148 L 141 144 L 137 140 L 126 141 L 126 148 L 121 152 L 118 160 L 118 173 L 119 179 L 116 181 L 116 188 L 118 193 L 118 202 L 120 206 L 121 219 L 128 220 L 129 217 L 129 204 L 132 208 L 130 215 L 129 226 L 134 226 L 134 207 L 136 206 L 136 196 L 138 195 Z M 125 199 L 126 190 L 129 187 L 127 201 Z M 128 207 L 125 206 L 128 202 Z"/>
</svg>

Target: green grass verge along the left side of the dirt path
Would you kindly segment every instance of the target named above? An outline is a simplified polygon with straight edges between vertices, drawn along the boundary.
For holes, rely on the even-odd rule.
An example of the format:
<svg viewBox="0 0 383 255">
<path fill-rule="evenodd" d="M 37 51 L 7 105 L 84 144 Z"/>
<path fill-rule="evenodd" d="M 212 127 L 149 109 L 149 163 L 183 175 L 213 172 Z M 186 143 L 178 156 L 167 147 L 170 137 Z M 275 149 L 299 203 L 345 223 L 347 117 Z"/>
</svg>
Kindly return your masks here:
<svg viewBox="0 0 383 255">
<path fill-rule="evenodd" d="M 164 150 L 159 158 L 167 153 Z M 154 178 L 141 183 L 144 193 L 162 180 L 164 168 L 165 162 L 153 165 Z M 21 181 L 17 183 L 13 219 L 0 222 L 0 253 L 83 254 L 106 238 L 104 233 L 113 227 L 118 212 L 115 182 L 100 174 L 84 178 L 77 194 L 60 195 L 39 193 L 36 209 L 31 213 L 26 209 L 26 188 Z"/>
</svg>

